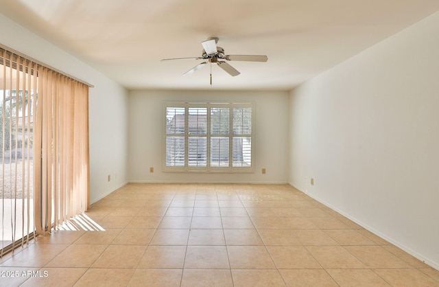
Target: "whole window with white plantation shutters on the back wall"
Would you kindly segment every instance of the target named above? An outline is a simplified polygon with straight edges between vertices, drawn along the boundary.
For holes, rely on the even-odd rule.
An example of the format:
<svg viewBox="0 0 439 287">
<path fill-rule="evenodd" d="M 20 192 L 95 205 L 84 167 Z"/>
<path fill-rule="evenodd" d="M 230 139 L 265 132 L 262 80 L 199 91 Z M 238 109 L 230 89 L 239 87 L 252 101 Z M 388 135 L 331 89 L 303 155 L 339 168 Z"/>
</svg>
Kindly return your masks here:
<svg viewBox="0 0 439 287">
<path fill-rule="evenodd" d="M 252 103 L 165 103 L 165 171 L 252 172 Z"/>
</svg>

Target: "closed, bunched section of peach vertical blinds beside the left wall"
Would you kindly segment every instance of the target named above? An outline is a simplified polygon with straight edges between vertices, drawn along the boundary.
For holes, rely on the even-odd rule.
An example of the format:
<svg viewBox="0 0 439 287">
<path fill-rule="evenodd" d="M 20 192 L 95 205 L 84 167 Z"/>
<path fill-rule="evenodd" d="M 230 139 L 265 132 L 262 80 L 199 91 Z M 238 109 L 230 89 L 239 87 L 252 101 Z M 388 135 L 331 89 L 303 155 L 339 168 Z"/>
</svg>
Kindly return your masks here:
<svg viewBox="0 0 439 287">
<path fill-rule="evenodd" d="M 37 95 L 35 227 L 44 234 L 88 206 L 88 86 L 39 66 Z"/>
</svg>

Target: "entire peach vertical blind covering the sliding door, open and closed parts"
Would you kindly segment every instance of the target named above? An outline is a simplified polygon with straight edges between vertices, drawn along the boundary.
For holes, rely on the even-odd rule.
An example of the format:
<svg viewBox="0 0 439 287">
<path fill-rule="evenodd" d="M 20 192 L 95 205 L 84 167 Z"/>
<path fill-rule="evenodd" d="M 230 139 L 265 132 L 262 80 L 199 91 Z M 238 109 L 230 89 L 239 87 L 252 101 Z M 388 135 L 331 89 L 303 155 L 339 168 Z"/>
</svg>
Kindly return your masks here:
<svg viewBox="0 0 439 287">
<path fill-rule="evenodd" d="M 3 253 L 86 210 L 88 85 L 0 47 L 0 93 Z"/>
</svg>

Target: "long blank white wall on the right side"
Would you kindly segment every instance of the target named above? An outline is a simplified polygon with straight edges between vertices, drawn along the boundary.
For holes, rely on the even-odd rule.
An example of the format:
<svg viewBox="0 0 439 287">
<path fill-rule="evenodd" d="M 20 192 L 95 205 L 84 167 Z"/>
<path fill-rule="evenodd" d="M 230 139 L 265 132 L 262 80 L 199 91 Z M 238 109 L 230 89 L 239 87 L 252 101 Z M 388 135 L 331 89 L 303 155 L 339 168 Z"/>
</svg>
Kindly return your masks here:
<svg viewBox="0 0 439 287">
<path fill-rule="evenodd" d="M 290 104 L 290 183 L 439 268 L 439 12 Z"/>
</svg>

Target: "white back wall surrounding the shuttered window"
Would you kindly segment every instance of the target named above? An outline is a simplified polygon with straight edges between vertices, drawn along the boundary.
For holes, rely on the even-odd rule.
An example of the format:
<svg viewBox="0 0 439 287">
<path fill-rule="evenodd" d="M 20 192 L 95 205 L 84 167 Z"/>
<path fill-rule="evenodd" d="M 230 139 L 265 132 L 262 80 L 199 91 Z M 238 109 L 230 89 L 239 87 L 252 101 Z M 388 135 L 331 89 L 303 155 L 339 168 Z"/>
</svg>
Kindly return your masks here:
<svg viewBox="0 0 439 287">
<path fill-rule="evenodd" d="M 162 172 L 163 102 L 255 102 L 255 172 L 252 174 L 180 174 Z M 129 181 L 203 183 L 288 182 L 289 93 L 233 91 L 130 91 Z M 154 167 L 154 173 L 150 173 Z M 261 174 L 266 168 L 267 173 Z"/>
</svg>

